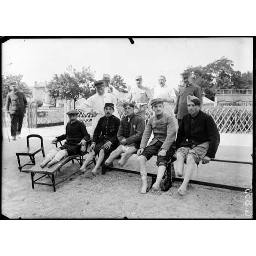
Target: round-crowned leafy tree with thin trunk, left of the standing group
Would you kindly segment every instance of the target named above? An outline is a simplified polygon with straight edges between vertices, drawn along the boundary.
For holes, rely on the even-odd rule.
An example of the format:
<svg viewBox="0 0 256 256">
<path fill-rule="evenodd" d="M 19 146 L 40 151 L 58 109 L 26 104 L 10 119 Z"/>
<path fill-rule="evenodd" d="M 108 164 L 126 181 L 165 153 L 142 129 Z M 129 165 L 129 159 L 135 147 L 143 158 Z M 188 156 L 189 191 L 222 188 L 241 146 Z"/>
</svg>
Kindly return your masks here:
<svg viewBox="0 0 256 256">
<path fill-rule="evenodd" d="M 55 100 L 57 98 L 73 99 L 75 108 L 78 99 L 87 99 L 95 94 L 96 90 L 93 87 L 93 83 L 95 82 L 94 73 L 95 71 L 92 72 L 90 67 L 83 67 L 82 71 L 77 71 L 72 66 L 68 66 L 67 72 L 59 76 L 54 74 L 46 87 Z"/>
</svg>

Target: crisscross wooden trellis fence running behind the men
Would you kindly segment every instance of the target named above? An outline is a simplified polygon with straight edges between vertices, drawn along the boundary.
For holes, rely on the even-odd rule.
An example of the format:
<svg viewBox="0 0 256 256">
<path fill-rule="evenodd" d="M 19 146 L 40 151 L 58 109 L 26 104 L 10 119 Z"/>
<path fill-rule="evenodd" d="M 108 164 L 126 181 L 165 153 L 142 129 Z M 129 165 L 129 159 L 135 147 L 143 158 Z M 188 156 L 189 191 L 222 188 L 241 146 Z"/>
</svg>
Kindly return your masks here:
<svg viewBox="0 0 256 256">
<path fill-rule="evenodd" d="M 70 101 L 64 106 L 63 120 L 64 124 L 67 123 L 67 111 L 71 108 Z M 174 106 L 173 106 L 174 108 Z M 221 106 L 202 106 L 202 111 L 213 117 L 217 124 L 217 128 L 220 133 L 252 133 L 252 109 L 237 107 L 228 108 Z M 78 120 L 85 123 L 86 126 L 92 125 L 93 117 L 89 114 L 84 114 L 82 111 L 78 111 Z M 124 116 L 124 111 L 122 109 L 118 110 L 120 117 Z M 153 111 L 146 111 L 145 122 L 148 122 L 149 118 L 153 115 Z M 10 119 L 6 116 L 5 111 L 2 111 L 2 126 L 10 127 Z M 28 117 L 25 114 L 23 119 L 23 127 L 28 127 Z"/>
</svg>

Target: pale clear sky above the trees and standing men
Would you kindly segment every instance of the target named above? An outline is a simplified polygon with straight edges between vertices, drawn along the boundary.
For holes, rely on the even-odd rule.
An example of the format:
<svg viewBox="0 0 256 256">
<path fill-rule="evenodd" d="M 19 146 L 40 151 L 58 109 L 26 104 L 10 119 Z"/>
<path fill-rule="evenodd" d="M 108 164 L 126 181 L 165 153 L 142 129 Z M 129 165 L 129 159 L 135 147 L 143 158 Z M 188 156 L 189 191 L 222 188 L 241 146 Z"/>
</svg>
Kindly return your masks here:
<svg viewBox="0 0 256 256">
<path fill-rule="evenodd" d="M 69 65 L 78 71 L 91 67 L 95 79 L 103 73 L 121 75 L 124 82 L 154 88 L 164 75 L 174 88 L 189 66 L 206 66 L 222 56 L 234 61 L 234 70 L 252 72 L 252 38 L 144 38 L 134 39 L 10 39 L 2 44 L 2 74 L 22 74 L 28 86 L 50 82 Z"/>
</svg>

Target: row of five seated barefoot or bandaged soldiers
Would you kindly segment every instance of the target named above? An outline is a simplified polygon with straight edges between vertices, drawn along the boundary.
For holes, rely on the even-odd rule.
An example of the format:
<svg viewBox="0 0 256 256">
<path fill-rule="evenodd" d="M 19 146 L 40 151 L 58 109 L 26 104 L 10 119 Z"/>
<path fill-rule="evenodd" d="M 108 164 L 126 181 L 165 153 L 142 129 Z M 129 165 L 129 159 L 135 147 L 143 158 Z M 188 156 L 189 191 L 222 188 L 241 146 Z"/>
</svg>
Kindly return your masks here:
<svg viewBox="0 0 256 256">
<path fill-rule="evenodd" d="M 150 189 L 146 161 L 154 155 L 157 156 L 158 172 L 152 189 L 160 191 L 161 179 L 167 170 L 168 161 L 173 156 L 177 158 L 178 176 L 183 176 L 184 163 L 187 164 L 184 181 L 178 189 L 178 195 L 185 195 L 195 163 L 202 161 L 205 164 L 214 158 L 220 142 L 220 135 L 213 118 L 200 110 L 200 100 L 189 95 L 187 104 L 189 113 L 184 115 L 176 134 L 175 117 L 163 112 L 164 105 L 161 98 L 151 100 L 154 115 L 150 117 L 146 126 L 144 118 L 134 113 L 133 102 L 123 104 L 125 117 L 121 121 L 113 116 L 115 111 L 113 103 L 106 103 L 105 116 L 100 117 L 97 123 L 90 152 L 80 168 L 80 174 L 84 174 L 86 178 L 89 178 L 90 172 L 95 175 L 107 156 L 104 162 L 106 166 L 112 165 L 113 161 L 121 156 L 118 165 L 122 167 L 130 156 L 137 153 L 142 179 L 140 193 L 145 194 Z M 66 142 L 61 147 L 50 150 L 41 167 L 45 165 L 50 167 L 65 156 L 78 154 L 81 145 L 85 145 L 90 139 L 85 124 L 77 120 L 78 111 L 71 110 L 67 114 L 70 122 L 67 123 L 66 134 L 53 140 L 56 142 L 66 139 Z M 153 139 L 148 144 L 152 132 Z M 96 155 L 98 155 L 97 163 L 90 171 L 87 166 Z"/>
</svg>

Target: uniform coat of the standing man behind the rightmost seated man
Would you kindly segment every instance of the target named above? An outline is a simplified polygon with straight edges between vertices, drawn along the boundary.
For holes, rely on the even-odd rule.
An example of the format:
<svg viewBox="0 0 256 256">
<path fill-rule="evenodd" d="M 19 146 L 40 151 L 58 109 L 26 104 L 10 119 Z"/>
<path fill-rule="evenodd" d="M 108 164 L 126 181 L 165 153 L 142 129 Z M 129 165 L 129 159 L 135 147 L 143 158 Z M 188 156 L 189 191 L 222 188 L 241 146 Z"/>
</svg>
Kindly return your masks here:
<svg viewBox="0 0 256 256">
<path fill-rule="evenodd" d="M 177 114 L 177 119 L 182 119 L 182 117 L 189 112 L 187 103 L 188 95 L 194 95 L 201 101 L 201 104 L 203 103 L 203 95 L 199 86 L 194 83 L 189 83 L 188 86 L 182 87 L 174 109 L 174 113 Z"/>
</svg>

